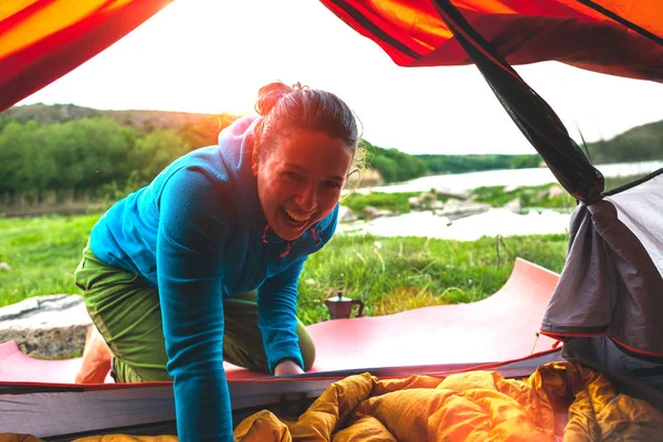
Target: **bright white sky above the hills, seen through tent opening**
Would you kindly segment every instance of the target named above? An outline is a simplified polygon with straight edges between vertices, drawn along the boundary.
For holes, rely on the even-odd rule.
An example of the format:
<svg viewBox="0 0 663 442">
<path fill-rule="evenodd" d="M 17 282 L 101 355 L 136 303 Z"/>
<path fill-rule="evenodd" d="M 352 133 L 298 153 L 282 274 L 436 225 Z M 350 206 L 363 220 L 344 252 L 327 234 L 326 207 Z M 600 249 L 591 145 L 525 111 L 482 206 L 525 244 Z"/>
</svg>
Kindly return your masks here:
<svg viewBox="0 0 663 442">
<path fill-rule="evenodd" d="M 517 67 L 577 139 L 663 119 L 663 84 L 559 63 Z M 533 154 L 474 66 L 399 67 L 312 0 L 176 0 L 20 104 L 249 113 L 274 80 L 344 98 L 364 136 L 410 154 Z"/>
</svg>

